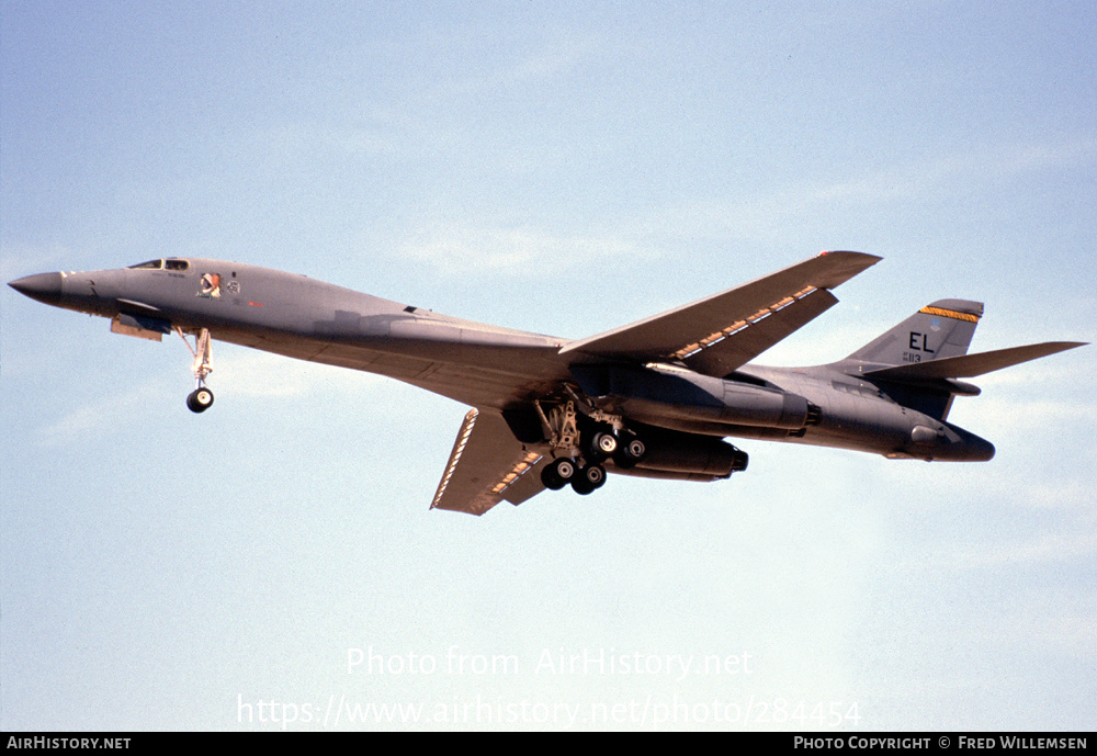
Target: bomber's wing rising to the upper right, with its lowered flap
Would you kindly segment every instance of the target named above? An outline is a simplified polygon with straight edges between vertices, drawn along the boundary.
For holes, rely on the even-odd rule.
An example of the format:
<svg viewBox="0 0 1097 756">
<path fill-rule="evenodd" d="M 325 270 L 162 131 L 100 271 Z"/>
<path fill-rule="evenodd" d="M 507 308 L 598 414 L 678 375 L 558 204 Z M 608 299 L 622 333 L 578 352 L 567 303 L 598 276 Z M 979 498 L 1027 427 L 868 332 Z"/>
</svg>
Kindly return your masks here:
<svg viewBox="0 0 1097 756">
<path fill-rule="evenodd" d="M 674 359 L 708 375 L 726 375 L 834 306 L 838 300 L 828 290 L 879 260 L 861 252 L 823 252 L 661 315 L 573 341 L 561 353 Z"/>
</svg>

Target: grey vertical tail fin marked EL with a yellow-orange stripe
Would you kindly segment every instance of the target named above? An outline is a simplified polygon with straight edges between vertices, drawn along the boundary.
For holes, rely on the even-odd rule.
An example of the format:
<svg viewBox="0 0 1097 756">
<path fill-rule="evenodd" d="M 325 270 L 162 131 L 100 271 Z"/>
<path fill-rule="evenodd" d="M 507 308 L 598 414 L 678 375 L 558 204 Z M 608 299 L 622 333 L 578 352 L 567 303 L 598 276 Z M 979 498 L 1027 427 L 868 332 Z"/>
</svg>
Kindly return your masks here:
<svg viewBox="0 0 1097 756">
<path fill-rule="evenodd" d="M 938 300 L 849 356 L 850 360 L 903 365 L 968 353 L 982 302 Z"/>
</svg>

